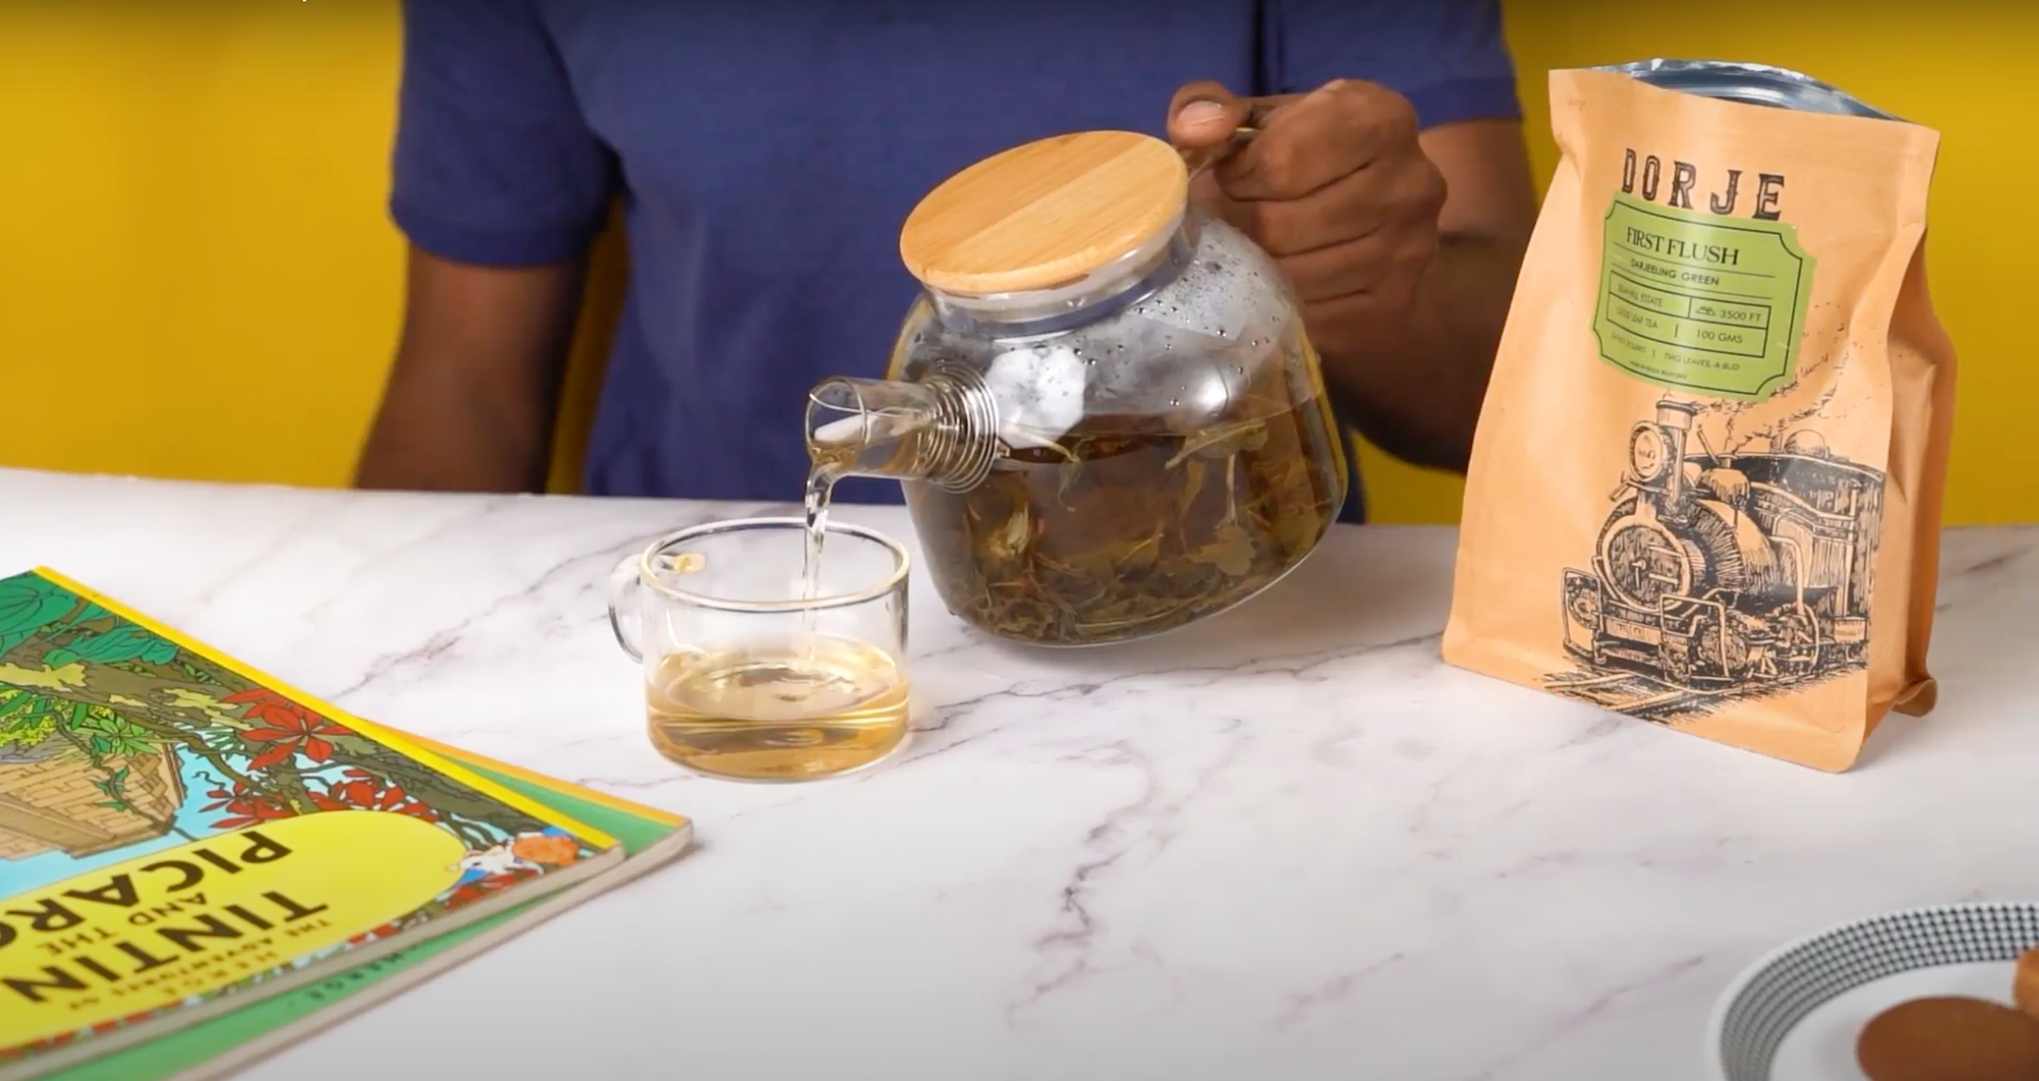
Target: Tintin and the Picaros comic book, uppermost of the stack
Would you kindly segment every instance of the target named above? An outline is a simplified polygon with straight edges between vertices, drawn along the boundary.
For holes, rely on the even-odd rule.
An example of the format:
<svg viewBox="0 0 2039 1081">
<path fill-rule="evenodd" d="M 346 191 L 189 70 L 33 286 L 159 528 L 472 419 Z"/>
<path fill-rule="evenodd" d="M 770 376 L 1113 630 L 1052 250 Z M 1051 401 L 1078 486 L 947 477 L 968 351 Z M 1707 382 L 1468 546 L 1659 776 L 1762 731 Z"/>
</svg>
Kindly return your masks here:
<svg viewBox="0 0 2039 1081">
<path fill-rule="evenodd" d="M 355 997 L 394 993 L 689 836 L 626 859 L 559 810 L 563 785 L 512 781 L 55 571 L 0 579 L 0 1081 L 302 1006 L 387 959 Z M 345 1006 L 226 1034 L 208 1063 Z"/>
</svg>

